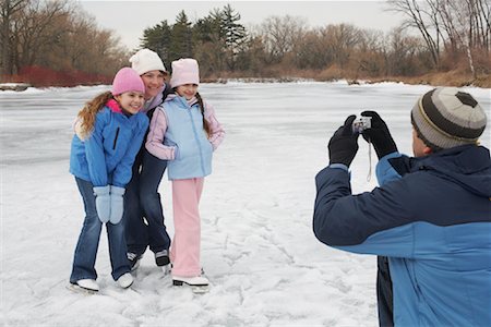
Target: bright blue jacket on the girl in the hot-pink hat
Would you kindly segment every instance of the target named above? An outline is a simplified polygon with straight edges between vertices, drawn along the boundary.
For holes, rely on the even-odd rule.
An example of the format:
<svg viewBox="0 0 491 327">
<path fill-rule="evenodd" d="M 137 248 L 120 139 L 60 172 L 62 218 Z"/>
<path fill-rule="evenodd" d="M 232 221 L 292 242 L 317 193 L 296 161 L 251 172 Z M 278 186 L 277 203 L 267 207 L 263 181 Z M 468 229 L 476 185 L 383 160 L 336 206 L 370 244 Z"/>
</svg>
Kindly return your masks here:
<svg viewBox="0 0 491 327">
<path fill-rule="evenodd" d="M 127 117 L 103 108 L 87 140 L 73 136 L 70 172 L 94 186 L 125 187 L 147 126 L 148 118 L 143 112 Z"/>
</svg>

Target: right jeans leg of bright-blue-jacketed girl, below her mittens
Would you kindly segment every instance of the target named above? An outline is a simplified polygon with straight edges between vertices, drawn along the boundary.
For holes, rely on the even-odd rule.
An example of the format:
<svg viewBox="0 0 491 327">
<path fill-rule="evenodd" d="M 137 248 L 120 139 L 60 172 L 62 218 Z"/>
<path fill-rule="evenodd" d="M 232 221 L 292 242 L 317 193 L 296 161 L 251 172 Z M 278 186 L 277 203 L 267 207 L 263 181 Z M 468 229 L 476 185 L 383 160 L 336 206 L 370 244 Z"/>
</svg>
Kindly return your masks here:
<svg viewBox="0 0 491 327">
<path fill-rule="evenodd" d="M 109 241 L 109 257 L 111 259 L 112 279 L 118 280 L 122 275 L 130 272 L 130 262 L 127 257 L 127 239 L 124 238 L 124 225 L 106 223 Z"/>
</svg>

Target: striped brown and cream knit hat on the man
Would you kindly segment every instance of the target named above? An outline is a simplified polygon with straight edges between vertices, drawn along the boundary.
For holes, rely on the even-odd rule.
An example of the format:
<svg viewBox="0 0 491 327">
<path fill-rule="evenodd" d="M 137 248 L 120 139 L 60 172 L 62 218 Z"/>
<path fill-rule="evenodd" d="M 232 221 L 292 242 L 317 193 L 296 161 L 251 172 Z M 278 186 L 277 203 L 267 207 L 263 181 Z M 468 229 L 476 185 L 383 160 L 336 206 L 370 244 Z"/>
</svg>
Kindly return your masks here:
<svg viewBox="0 0 491 327">
<path fill-rule="evenodd" d="M 470 94 L 455 87 L 436 87 L 418 99 L 411 121 L 418 137 L 436 152 L 476 144 L 488 119 Z"/>
</svg>

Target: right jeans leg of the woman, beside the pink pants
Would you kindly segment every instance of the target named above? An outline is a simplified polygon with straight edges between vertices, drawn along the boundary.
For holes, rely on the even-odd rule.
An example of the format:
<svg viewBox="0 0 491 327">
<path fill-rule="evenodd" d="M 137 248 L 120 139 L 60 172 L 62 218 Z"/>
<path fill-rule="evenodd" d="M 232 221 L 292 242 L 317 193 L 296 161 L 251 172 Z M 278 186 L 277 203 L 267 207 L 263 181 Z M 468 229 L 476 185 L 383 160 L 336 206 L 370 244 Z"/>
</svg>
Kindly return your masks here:
<svg viewBox="0 0 491 327">
<path fill-rule="evenodd" d="M 170 238 L 164 223 L 164 210 L 158 193 L 158 185 L 166 167 L 166 160 L 160 160 L 148 152 L 144 152 L 140 173 L 140 202 L 148 221 L 148 245 L 154 253 L 170 247 Z"/>
</svg>

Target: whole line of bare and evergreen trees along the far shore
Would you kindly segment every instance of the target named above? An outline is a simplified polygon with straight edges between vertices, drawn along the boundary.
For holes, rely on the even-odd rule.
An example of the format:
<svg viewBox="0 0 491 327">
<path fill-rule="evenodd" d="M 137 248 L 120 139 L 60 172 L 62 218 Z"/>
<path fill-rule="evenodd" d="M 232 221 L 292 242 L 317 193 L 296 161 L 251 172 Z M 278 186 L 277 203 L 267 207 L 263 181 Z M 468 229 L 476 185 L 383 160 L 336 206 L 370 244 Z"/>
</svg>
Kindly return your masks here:
<svg viewBox="0 0 491 327">
<path fill-rule="evenodd" d="M 1 7 L 2 73 L 37 64 L 111 75 L 128 63 L 130 51 L 113 33 L 98 29 L 68 1 L 1 0 Z M 406 17 L 387 33 L 352 24 L 309 27 L 289 15 L 247 28 L 230 4 L 194 22 L 181 11 L 173 24 L 144 29 L 140 47 L 159 53 L 167 65 L 196 58 L 205 80 L 383 80 L 457 71 L 489 81 L 489 0 L 390 0 L 387 10 Z"/>
</svg>

